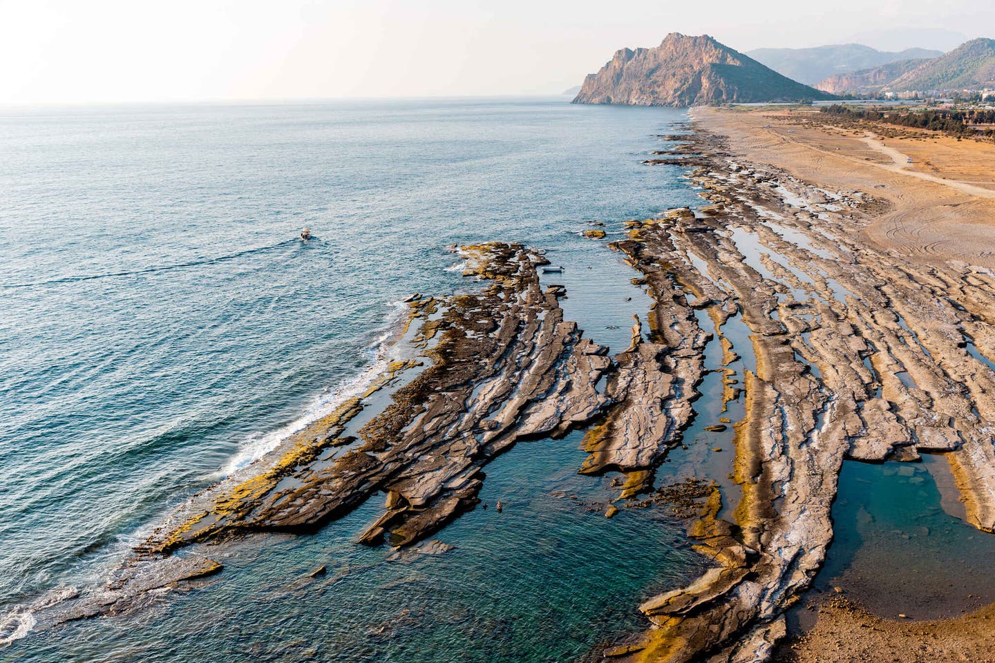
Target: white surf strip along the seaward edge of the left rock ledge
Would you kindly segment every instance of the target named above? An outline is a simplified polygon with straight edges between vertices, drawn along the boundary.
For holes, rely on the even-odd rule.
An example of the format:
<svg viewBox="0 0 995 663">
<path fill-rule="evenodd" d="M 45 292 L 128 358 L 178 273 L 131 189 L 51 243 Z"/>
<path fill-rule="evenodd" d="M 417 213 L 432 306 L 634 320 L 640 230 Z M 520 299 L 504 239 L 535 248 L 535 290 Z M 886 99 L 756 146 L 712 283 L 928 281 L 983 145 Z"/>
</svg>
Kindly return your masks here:
<svg viewBox="0 0 995 663">
<path fill-rule="evenodd" d="M 391 362 L 393 344 L 388 343 L 397 332 L 397 325 L 402 319 L 408 305 L 404 302 L 390 302 L 390 311 L 386 316 L 383 332 L 369 345 L 370 364 L 358 375 L 342 380 L 337 385 L 316 396 L 302 414 L 296 419 L 276 430 L 255 433 L 246 438 L 228 463 L 212 475 L 212 478 L 224 478 L 246 467 L 254 460 L 277 448 L 282 440 L 302 430 L 312 421 L 331 414 L 335 408 L 355 396 L 364 393 L 377 376 L 382 374 Z"/>
</svg>

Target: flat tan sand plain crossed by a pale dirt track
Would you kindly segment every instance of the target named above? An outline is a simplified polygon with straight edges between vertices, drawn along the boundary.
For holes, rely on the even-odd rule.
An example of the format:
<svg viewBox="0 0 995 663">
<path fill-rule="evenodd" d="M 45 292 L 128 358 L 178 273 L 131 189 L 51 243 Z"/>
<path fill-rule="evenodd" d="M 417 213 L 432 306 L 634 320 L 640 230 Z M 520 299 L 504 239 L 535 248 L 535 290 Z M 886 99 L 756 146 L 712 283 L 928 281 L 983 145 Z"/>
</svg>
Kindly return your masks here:
<svg viewBox="0 0 995 663">
<path fill-rule="evenodd" d="M 995 267 L 995 145 L 934 136 L 879 139 L 820 125 L 811 111 L 693 112 L 752 162 L 880 198 L 882 214 L 866 231 L 872 245 L 925 262 L 952 258 Z"/>
</svg>

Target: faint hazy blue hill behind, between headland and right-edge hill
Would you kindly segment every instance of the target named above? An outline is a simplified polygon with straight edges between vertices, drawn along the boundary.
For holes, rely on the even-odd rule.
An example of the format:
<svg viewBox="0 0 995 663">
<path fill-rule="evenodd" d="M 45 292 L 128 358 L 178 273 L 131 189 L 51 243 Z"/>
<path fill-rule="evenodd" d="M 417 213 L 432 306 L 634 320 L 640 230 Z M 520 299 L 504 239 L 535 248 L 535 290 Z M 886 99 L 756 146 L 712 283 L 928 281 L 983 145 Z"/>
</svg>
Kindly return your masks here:
<svg viewBox="0 0 995 663">
<path fill-rule="evenodd" d="M 746 55 L 778 74 L 814 85 L 831 76 L 849 74 L 891 63 L 938 58 L 942 51 L 905 49 L 878 51 L 863 44 L 834 44 L 811 49 L 755 49 Z M 832 90 L 829 90 L 832 91 Z"/>
</svg>

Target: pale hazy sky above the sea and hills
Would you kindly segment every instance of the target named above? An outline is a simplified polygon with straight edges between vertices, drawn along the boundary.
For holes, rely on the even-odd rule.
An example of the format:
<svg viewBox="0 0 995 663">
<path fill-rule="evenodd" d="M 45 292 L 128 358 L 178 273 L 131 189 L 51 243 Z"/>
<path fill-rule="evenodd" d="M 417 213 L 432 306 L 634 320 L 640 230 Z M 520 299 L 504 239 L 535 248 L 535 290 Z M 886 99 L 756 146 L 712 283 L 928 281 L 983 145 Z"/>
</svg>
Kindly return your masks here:
<svg viewBox="0 0 995 663">
<path fill-rule="evenodd" d="M 948 49 L 995 37 L 995 3 L 0 0 L 0 104 L 558 93 L 669 32 Z"/>
</svg>

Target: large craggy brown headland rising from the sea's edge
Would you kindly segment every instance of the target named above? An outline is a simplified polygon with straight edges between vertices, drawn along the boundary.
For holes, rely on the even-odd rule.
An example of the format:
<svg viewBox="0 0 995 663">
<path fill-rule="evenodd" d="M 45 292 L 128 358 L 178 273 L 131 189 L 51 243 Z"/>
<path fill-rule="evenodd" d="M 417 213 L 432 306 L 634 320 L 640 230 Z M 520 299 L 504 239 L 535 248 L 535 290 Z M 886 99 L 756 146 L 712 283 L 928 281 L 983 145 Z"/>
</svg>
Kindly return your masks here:
<svg viewBox="0 0 995 663">
<path fill-rule="evenodd" d="M 584 79 L 573 103 L 691 106 L 826 99 L 711 37 L 671 33 L 653 49 L 622 49 Z"/>
</svg>

